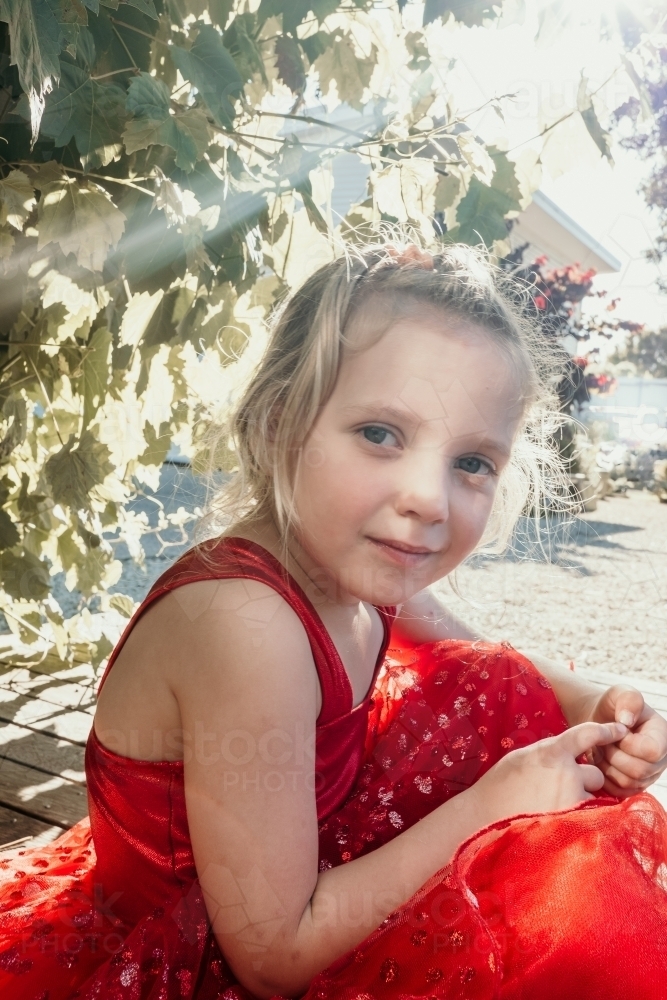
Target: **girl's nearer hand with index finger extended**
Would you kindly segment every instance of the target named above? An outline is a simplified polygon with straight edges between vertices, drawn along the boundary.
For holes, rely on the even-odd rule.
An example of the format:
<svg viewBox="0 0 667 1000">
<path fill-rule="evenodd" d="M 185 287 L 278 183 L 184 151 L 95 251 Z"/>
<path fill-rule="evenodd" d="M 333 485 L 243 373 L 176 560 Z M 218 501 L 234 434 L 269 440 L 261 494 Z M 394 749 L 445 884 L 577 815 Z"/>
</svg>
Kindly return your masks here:
<svg viewBox="0 0 667 1000">
<path fill-rule="evenodd" d="M 576 758 L 592 747 L 616 743 L 627 732 L 618 722 L 584 722 L 508 753 L 467 794 L 476 791 L 485 824 L 520 813 L 569 809 L 593 798 L 605 780 L 599 768 L 578 764 Z"/>
</svg>

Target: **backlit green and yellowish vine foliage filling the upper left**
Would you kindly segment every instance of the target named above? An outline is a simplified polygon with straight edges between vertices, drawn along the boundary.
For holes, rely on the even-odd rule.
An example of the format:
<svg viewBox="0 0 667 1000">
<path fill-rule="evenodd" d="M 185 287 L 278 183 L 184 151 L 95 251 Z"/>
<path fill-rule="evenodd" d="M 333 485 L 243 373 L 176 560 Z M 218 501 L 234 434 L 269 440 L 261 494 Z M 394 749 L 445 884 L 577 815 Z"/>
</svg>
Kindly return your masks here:
<svg viewBox="0 0 667 1000">
<path fill-rule="evenodd" d="M 308 269 L 382 220 L 502 247 L 530 191 L 429 56 L 440 19 L 497 8 L 429 2 L 408 30 L 405 6 L 0 0 L 0 609 L 22 639 L 108 654 L 87 606 L 131 611 L 109 596 L 119 544 L 143 558 L 127 501 L 172 445 L 196 454 Z M 367 183 L 340 219 L 343 152 Z"/>
</svg>

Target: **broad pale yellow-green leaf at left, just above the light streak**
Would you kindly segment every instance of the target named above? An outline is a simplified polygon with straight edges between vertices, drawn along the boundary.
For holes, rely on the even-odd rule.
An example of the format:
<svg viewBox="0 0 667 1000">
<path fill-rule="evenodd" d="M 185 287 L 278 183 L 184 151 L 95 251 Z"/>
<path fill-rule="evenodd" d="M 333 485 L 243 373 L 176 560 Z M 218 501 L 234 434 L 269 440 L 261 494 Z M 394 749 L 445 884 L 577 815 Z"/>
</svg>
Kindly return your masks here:
<svg viewBox="0 0 667 1000">
<path fill-rule="evenodd" d="M 39 203 L 38 250 L 58 243 L 89 271 L 101 271 L 111 247 L 123 235 L 125 216 L 98 187 L 67 179 L 47 184 Z"/>
</svg>

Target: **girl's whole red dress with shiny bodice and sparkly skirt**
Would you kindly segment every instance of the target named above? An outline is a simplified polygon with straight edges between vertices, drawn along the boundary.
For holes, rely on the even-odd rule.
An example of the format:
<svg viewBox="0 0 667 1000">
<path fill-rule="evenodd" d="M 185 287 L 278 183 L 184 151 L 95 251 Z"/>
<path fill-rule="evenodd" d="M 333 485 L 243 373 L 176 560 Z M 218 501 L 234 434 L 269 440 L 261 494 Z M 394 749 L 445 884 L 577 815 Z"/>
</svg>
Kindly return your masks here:
<svg viewBox="0 0 667 1000">
<path fill-rule="evenodd" d="M 107 672 L 154 600 L 223 577 L 267 583 L 310 640 L 323 696 L 321 870 L 397 836 L 512 747 L 566 727 L 548 682 L 507 644 L 448 641 L 385 657 L 387 608 L 378 609 L 385 641 L 375 683 L 352 709 L 313 605 L 268 552 L 241 539 L 218 542 L 206 559 L 187 553 L 161 577 Z M 46 847 L 0 855 L 0 997 L 249 1000 L 209 929 L 182 764 L 120 757 L 93 730 L 86 773 L 89 819 Z M 667 996 L 666 818 L 642 794 L 487 827 L 320 973 L 307 1000 Z M 237 890 L 236 902 L 245 899 Z M 261 950 L 250 917 L 239 933 Z"/>
</svg>

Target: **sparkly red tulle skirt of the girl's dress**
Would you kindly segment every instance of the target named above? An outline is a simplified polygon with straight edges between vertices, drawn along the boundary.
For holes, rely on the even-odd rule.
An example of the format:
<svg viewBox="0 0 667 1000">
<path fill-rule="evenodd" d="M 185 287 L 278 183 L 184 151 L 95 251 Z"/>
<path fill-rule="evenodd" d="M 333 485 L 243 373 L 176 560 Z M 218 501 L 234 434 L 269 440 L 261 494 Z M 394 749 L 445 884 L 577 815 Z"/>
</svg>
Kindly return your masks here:
<svg viewBox="0 0 667 1000">
<path fill-rule="evenodd" d="M 548 682 L 507 645 L 390 650 L 357 784 L 320 827 L 320 870 L 373 851 L 513 747 L 564 728 Z M 316 976 L 306 1000 L 664 998 L 666 820 L 641 794 L 487 827 Z M 129 926 L 99 898 L 95 865 L 87 820 L 0 855 L 1 997 L 250 1000 L 196 881 Z"/>
</svg>

